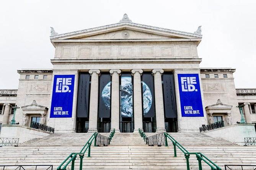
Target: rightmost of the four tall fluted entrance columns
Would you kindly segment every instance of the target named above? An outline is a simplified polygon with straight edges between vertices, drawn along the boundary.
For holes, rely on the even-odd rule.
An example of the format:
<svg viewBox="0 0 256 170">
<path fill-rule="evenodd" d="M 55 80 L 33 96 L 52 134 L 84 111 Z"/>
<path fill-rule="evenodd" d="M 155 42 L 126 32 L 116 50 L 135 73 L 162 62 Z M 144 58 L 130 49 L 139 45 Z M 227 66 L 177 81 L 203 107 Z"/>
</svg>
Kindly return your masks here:
<svg viewBox="0 0 256 170">
<path fill-rule="evenodd" d="M 161 74 L 162 69 L 153 69 L 155 83 L 155 107 L 157 119 L 157 132 L 166 132 L 165 130 L 165 114 L 163 108 L 163 87 Z"/>
</svg>

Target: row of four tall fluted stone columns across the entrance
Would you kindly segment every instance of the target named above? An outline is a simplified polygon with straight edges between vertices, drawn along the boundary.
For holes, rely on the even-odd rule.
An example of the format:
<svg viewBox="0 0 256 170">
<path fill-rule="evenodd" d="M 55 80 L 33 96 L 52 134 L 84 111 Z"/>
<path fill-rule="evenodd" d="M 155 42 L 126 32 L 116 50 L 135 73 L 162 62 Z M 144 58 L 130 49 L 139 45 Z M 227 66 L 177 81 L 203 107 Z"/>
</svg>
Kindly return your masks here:
<svg viewBox="0 0 256 170">
<path fill-rule="evenodd" d="M 133 69 L 133 95 L 134 95 L 134 132 L 142 129 L 142 91 L 141 91 L 141 74 L 142 69 Z M 91 74 L 91 91 L 90 91 L 90 116 L 88 132 L 97 132 L 97 118 L 98 118 L 98 85 L 100 70 L 92 69 Z M 119 130 L 119 74 L 121 70 L 112 69 L 109 71 L 112 76 L 111 86 L 111 129 L 115 128 L 116 132 Z M 165 132 L 165 117 L 163 107 L 163 90 L 162 90 L 162 69 L 153 69 L 152 71 L 155 83 L 155 106 L 156 106 L 156 120 L 157 132 Z"/>
</svg>

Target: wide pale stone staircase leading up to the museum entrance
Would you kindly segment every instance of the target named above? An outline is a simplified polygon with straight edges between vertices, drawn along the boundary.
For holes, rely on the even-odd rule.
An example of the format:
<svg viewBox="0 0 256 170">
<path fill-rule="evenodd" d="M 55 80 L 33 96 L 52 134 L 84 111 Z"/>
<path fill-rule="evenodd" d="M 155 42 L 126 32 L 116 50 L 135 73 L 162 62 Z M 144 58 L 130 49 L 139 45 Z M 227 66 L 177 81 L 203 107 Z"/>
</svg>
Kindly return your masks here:
<svg viewBox="0 0 256 170">
<path fill-rule="evenodd" d="M 56 169 L 71 152 L 79 152 L 91 135 L 92 133 L 54 133 L 42 139 L 30 140 L 18 147 L 2 147 L 0 165 L 54 165 L 53 168 Z M 147 136 L 150 135 L 153 133 L 147 133 Z M 189 152 L 202 152 L 222 170 L 225 169 L 225 164 L 256 165 L 256 146 L 238 146 L 199 133 L 170 135 Z M 77 158 L 76 170 L 79 169 L 79 162 Z M 198 169 L 198 161 L 194 155 L 189 159 L 189 165 L 192 170 Z M 179 149 L 177 157 L 174 157 L 171 143 L 168 147 L 147 146 L 139 133 L 115 133 L 109 146 L 91 147 L 91 157 L 84 157 L 83 169 L 186 170 L 186 159 Z M 202 162 L 202 169 L 210 167 Z"/>
</svg>

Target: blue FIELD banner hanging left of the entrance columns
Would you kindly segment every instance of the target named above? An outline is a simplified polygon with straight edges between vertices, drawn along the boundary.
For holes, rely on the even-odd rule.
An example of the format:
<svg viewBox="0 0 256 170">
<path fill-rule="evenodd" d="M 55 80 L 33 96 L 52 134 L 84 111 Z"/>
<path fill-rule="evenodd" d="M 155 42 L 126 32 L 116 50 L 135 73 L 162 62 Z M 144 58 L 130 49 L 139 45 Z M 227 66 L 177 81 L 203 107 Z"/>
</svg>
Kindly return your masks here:
<svg viewBox="0 0 256 170">
<path fill-rule="evenodd" d="M 50 118 L 72 117 L 75 75 L 54 75 Z"/>
</svg>

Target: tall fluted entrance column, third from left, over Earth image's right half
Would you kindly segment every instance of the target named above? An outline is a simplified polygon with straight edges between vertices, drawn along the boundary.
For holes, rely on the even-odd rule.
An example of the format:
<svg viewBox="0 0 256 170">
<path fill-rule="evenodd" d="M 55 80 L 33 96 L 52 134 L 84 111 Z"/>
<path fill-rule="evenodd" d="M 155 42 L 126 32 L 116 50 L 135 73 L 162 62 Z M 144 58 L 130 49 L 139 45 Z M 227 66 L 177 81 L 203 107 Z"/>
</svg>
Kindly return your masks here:
<svg viewBox="0 0 256 170">
<path fill-rule="evenodd" d="M 142 69 L 133 69 L 133 95 L 134 95 L 134 132 L 139 132 L 142 129 L 142 93 L 141 93 L 141 80 L 140 74 Z"/>
</svg>

